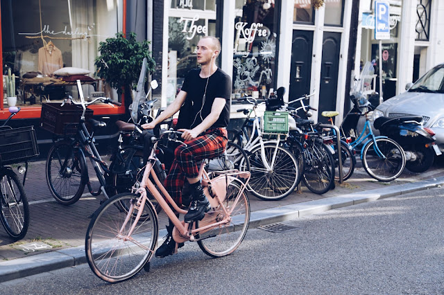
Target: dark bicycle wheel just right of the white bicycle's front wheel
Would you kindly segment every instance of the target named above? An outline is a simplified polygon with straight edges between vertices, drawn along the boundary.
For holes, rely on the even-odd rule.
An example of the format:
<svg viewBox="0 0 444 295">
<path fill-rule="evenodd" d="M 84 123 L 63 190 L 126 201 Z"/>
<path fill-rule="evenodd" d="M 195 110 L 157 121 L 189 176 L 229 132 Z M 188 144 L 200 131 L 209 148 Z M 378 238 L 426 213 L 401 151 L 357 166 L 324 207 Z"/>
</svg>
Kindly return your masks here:
<svg viewBox="0 0 444 295">
<path fill-rule="evenodd" d="M 322 195 L 334 186 L 334 158 L 324 143 L 314 141 L 304 151 L 302 181 L 312 193 Z"/>
</svg>

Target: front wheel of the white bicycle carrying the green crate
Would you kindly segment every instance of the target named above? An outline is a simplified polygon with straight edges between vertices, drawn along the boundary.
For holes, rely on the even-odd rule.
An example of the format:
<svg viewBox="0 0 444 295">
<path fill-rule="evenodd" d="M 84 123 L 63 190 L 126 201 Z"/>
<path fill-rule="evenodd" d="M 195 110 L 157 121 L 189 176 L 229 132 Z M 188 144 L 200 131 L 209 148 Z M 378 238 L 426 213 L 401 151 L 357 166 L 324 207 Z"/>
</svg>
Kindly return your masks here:
<svg viewBox="0 0 444 295">
<path fill-rule="evenodd" d="M 266 171 L 258 145 L 248 154 L 251 177 L 248 190 L 259 199 L 278 200 L 290 195 L 298 185 L 298 162 L 289 150 L 273 143 L 264 143 L 265 157 L 271 163 L 276 150 L 274 166 Z"/>
</svg>

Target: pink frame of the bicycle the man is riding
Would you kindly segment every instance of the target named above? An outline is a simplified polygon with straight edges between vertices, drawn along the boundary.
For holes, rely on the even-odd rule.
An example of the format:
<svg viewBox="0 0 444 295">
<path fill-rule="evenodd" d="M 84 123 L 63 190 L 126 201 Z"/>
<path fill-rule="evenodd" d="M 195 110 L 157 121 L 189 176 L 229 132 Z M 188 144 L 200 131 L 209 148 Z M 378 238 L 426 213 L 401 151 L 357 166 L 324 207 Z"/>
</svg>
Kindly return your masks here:
<svg viewBox="0 0 444 295">
<path fill-rule="evenodd" d="M 180 220 L 178 219 L 176 214 L 170 208 L 169 204 L 171 204 L 171 206 L 173 206 L 173 209 L 176 212 L 182 213 L 184 215 L 187 213 L 186 210 L 179 208 L 179 206 L 176 204 L 176 202 L 173 201 L 173 198 L 169 195 L 169 193 L 167 192 L 167 189 L 164 188 L 162 182 L 158 179 L 157 175 L 155 174 L 155 171 L 153 169 L 153 165 L 157 159 L 155 157 L 155 150 L 157 148 L 157 143 L 158 143 L 158 141 L 155 143 L 155 145 L 153 145 L 153 149 L 151 150 L 151 154 L 148 157 L 148 163 L 146 164 L 146 167 L 144 170 L 144 177 L 142 179 L 142 186 L 137 188 L 137 190 L 135 191 L 135 193 L 140 193 L 140 197 L 137 199 L 136 204 L 130 205 L 130 208 L 128 210 L 128 215 L 126 216 L 125 222 L 123 222 L 123 226 L 121 227 L 121 231 L 123 231 L 123 229 L 125 228 L 126 224 L 129 222 L 129 220 L 131 218 L 134 218 L 133 211 L 136 208 L 144 208 L 144 205 L 146 204 L 146 202 L 148 202 L 148 204 L 152 208 L 155 208 L 153 206 L 153 204 L 151 203 L 150 199 L 148 199 L 148 197 L 147 197 L 146 189 L 148 189 L 149 193 L 151 193 L 151 195 L 153 195 L 153 197 L 156 199 L 156 201 L 160 204 L 160 206 L 162 207 L 162 210 L 164 210 L 164 212 L 167 213 L 169 219 L 176 226 L 176 229 L 177 229 L 178 233 L 180 234 L 181 238 L 184 238 L 186 240 L 197 241 L 198 239 L 194 238 L 194 235 L 196 235 L 196 233 L 203 233 L 203 231 L 205 231 L 207 229 L 212 229 L 215 226 L 219 226 L 221 224 L 227 224 L 227 223 L 231 222 L 230 215 L 232 213 L 232 210 L 236 207 L 236 204 L 239 201 L 239 197 L 242 195 L 242 193 L 244 193 L 244 190 L 246 189 L 246 185 L 248 184 L 248 180 L 250 179 L 250 172 L 238 172 L 237 170 L 221 171 L 221 172 L 217 172 L 218 174 L 221 174 L 221 175 L 219 175 L 219 177 L 215 177 L 214 179 L 210 179 L 209 175 L 207 174 L 207 172 L 204 169 L 204 163 L 202 163 L 200 165 L 200 169 L 199 169 L 199 176 L 203 178 L 202 185 L 204 187 L 204 193 L 207 196 L 207 199 L 210 201 L 212 208 L 215 208 L 217 206 L 221 206 L 223 213 L 225 215 L 225 218 L 219 222 L 207 224 L 207 225 L 202 226 L 198 229 L 192 229 L 193 223 L 190 223 L 190 224 L 188 224 L 188 226 L 185 226 L 183 222 L 180 222 Z M 153 182 L 149 178 L 150 175 L 151 175 L 151 177 L 153 177 L 155 184 L 153 184 Z M 242 177 L 242 178 L 246 177 L 247 180 L 244 183 L 244 182 L 240 181 L 239 179 L 237 179 L 237 177 Z M 217 179 L 219 179 L 219 181 Z M 223 182 L 225 182 L 225 184 L 228 184 L 232 181 L 237 181 L 238 184 L 241 184 L 241 189 L 239 190 L 239 193 L 236 197 L 236 200 L 234 201 L 234 204 L 232 205 L 231 210 L 228 210 L 227 208 L 225 208 L 225 206 L 223 206 L 223 201 L 224 201 L 223 197 L 224 196 L 222 196 L 222 194 L 221 195 L 218 194 L 218 190 L 221 189 L 219 186 L 221 186 L 222 184 L 218 184 L 217 182 L 221 182 L 221 179 L 225 180 L 225 181 L 223 181 Z M 156 186 L 157 186 L 157 188 L 160 189 L 160 192 L 156 188 Z M 207 188 L 207 189 L 205 190 L 205 188 Z M 133 190 L 134 189 L 135 189 L 135 187 L 133 187 Z M 223 193 L 223 190 L 222 190 L 222 193 Z M 169 204 L 164 199 L 164 197 L 162 197 L 162 195 L 165 196 L 165 198 L 167 199 Z M 131 227 L 130 231 L 128 232 L 128 237 L 133 233 L 135 226 L 137 226 L 137 220 L 139 220 L 141 215 L 142 215 L 142 210 L 137 212 L 137 216 L 135 217 L 136 221 L 133 222 L 133 226 Z"/>
</svg>

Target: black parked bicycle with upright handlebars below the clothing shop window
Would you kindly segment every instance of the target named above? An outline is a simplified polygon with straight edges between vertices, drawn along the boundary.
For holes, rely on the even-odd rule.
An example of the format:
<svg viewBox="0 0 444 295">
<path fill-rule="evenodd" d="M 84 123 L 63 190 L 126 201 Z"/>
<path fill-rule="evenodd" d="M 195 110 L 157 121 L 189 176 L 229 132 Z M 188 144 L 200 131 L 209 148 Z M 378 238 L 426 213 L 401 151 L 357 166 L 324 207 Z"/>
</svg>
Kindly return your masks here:
<svg viewBox="0 0 444 295">
<path fill-rule="evenodd" d="M 61 130 L 61 136 L 56 137 L 46 159 L 46 182 L 51 191 L 51 195 L 63 205 L 71 205 L 77 202 L 82 196 L 85 186 L 87 186 L 89 193 L 93 196 L 98 196 L 103 193 L 106 198 L 110 197 L 105 190 L 105 173 L 109 175 L 111 172 L 107 163 L 101 159 L 94 145 L 94 130 L 105 127 L 106 124 L 89 118 L 88 123 L 92 128 L 92 132 L 89 133 L 86 125 L 85 112 L 87 111 L 87 106 L 93 105 L 96 102 L 121 105 L 120 102 L 115 102 L 110 98 L 95 98 L 91 102 L 86 102 L 83 97 L 80 80 L 77 80 L 77 87 L 80 101 L 77 102 L 69 98 L 69 100 L 71 100 L 69 108 L 78 112 L 79 108 L 76 106 L 81 106 L 80 110 L 82 113 L 80 118 L 77 123 L 65 124 L 64 129 Z M 63 107 L 65 103 L 67 103 L 67 99 L 62 102 L 60 107 Z M 56 106 L 57 104 L 53 104 L 53 107 Z M 56 111 L 58 110 L 56 109 Z M 90 109 L 88 109 L 88 111 L 89 116 L 92 116 L 92 111 Z M 43 127 L 45 126 L 45 118 L 46 113 L 42 109 Z M 92 189 L 89 181 L 86 157 L 91 161 L 97 178 L 99 179 L 100 187 L 97 191 Z"/>
</svg>

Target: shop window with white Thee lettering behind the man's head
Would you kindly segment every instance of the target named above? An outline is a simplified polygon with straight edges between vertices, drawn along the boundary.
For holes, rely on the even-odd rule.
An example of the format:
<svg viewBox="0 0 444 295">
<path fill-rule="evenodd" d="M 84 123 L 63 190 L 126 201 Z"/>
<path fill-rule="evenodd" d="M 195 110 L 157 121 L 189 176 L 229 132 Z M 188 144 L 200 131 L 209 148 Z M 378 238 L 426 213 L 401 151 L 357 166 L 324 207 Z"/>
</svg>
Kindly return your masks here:
<svg viewBox="0 0 444 295">
<path fill-rule="evenodd" d="M 182 3 L 186 3 L 187 6 L 182 8 L 180 5 Z M 176 98 L 185 75 L 191 69 L 199 67 L 196 58 L 199 39 L 203 36 L 220 37 L 216 34 L 216 0 L 173 0 L 171 8 L 174 10 L 170 10 L 168 22 L 167 104 Z M 214 11 L 205 12 L 204 17 L 201 10 Z"/>
</svg>

